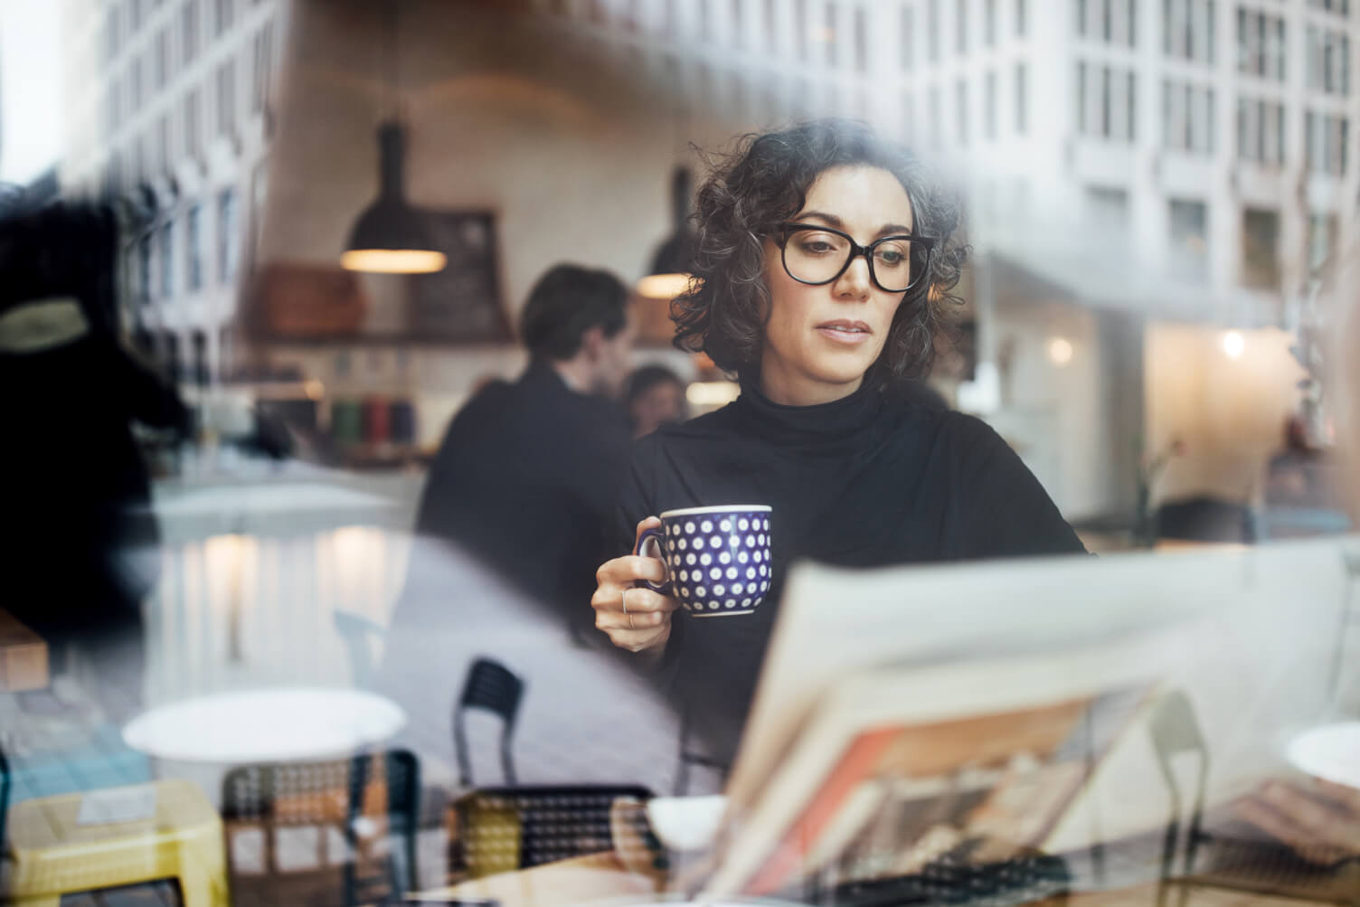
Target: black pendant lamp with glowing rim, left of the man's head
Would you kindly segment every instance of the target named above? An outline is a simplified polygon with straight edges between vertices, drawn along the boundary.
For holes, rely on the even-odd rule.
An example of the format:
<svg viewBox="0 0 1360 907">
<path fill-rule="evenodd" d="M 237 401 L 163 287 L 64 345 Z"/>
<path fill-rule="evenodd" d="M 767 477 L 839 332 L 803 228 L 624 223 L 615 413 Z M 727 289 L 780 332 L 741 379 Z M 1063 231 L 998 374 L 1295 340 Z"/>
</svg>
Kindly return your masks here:
<svg viewBox="0 0 1360 907">
<path fill-rule="evenodd" d="M 389 7 L 386 46 L 393 97 L 398 94 L 397 5 Z M 405 126 L 396 114 L 378 126 L 378 197 L 354 222 L 340 265 L 377 273 L 442 271 L 445 254 L 434 247 L 426 218 L 405 197 Z"/>
</svg>

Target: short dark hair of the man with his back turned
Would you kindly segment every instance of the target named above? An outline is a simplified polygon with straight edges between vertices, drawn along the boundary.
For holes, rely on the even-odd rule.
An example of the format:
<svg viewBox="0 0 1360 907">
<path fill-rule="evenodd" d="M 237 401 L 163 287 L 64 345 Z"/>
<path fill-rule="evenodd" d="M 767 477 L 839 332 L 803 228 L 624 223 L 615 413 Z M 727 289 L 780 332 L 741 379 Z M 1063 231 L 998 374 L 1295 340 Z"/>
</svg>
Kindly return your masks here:
<svg viewBox="0 0 1360 907">
<path fill-rule="evenodd" d="M 627 288 L 608 271 L 556 265 L 529 292 L 520 336 L 536 359 L 571 359 L 590 328 L 601 325 L 607 337 L 623 330 L 627 303 Z"/>
</svg>

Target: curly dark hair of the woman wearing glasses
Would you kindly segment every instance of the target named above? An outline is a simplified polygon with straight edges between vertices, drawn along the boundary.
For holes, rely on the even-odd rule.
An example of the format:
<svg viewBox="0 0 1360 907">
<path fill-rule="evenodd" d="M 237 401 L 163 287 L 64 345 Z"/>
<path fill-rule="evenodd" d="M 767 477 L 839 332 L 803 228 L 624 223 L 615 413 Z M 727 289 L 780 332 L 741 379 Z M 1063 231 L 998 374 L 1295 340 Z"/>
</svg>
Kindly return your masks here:
<svg viewBox="0 0 1360 907">
<path fill-rule="evenodd" d="M 743 374 L 760 362 L 770 317 L 764 241 L 802 209 L 808 189 L 826 170 L 845 165 L 883 167 L 911 200 L 917 233 L 936 238 L 930 271 L 908 291 L 892 318 L 877 378 L 930 371 L 945 313 L 963 299 L 952 292 L 968 247 L 955 235 L 959 204 L 906 148 L 880 139 L 864 122 L 813 120 L 781 132 L 751 133 L 734 151 L 710 158 L 699 188 L 690 290 L 670 303 L 675 345 L 706 352 L 724 371 Z"/>
</svg>

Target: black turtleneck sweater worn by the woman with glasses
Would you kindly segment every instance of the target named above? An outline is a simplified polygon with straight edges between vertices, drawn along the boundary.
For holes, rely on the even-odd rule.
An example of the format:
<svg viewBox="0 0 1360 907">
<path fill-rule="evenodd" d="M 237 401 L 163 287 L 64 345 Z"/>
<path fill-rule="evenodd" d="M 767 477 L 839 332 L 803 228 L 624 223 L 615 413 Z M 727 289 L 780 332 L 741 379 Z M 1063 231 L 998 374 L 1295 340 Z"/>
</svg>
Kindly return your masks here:
<svg viewBox="0 0 1360 907">
<path fill-rule="evenodd" d="M 770 594 L 745 617 L 676 612 L 666 645 L 691 726 L 721 761 L 734 752 L 792 563 L 879 567 L 1085 551 L 996 431 L 868 385 L 816 407 L 783 407 L 743 385 L 728 407 L 642 438 L 619 499 L 620 549 L 645 517 L 728 503 L 774 509 Z"/>
</svg>

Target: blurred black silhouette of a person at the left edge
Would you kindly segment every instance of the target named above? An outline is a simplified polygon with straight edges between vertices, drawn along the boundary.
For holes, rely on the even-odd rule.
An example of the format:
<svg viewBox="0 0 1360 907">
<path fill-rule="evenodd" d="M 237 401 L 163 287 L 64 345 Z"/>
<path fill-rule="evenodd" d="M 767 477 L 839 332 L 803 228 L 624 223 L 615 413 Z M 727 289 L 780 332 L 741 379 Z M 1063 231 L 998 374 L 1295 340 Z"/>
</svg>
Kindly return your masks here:
<svg viewBox="0 0 1360 907">
<path fill-rule="evenodd" d="M 26 708 L 63 708 L 69 679 L 125 721 L 141 700 L 141 609 L 160 566 L 132 423 L 188 435 L 190 417 L 117 335 L 117 242 L 103 205 L 0 215 L 0 481 L 11 526 L 0 604 L 46 640 L 58 681 L 57 696 L 24 694 Z"/>
</svg>

